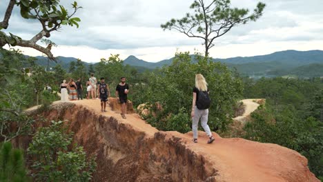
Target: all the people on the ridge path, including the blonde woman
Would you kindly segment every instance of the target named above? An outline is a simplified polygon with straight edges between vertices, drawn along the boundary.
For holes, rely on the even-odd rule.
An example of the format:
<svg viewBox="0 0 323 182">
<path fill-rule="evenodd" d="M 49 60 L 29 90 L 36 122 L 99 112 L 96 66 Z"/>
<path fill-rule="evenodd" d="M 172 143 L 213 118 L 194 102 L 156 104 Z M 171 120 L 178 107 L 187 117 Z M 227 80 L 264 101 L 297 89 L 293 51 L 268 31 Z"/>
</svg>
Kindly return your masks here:
<svg viewBox="0 0 323 182">
<path fill-rule="evenodd" d="M 61 101 L 68 101 L 68 91 L 70 90 L 70 101 L 74 101 L 82 98 L 82 84 L 81 80 L 77 79 L 75 83 L 73 79 L 70 79 L 68 83 L 66 80 L 61 83 Z M 106 112 L 106 102 L 108 97 L 110 97 L 110 88 L 107 83 L 105 83 L 104 77 L 101 77 L 100 81 L 91 74 L 91 77 L 86 82 L 86 98 L 90 99 L 101 99 L 101 112 Z M 120 83 L 115 89 L 115 95 L 121 103 L 121 117 L 126 119 L 126 103 L 127 94 L 129 92 L 129 85 L 126 83 L 126 78 L 121 77 Z M 211 99 L 208 96 L 208 83 L 206 83 L 205 78 L 202 74 L 195 74 L 195 87 L 193 88 L 193 101 L 192 101 L 192 112 L 191 117 L 193 120 L 192 130 L 193 130 L 193 142 L 197 143 L 197 128 L 199 120 L 201 120 L 201 125 L 208 136 L 207 143 L 213 143 L 215 138 L 213 137 L 210 128 L 208 127 L 208 108 L 210 107 Z"/>
</svg>

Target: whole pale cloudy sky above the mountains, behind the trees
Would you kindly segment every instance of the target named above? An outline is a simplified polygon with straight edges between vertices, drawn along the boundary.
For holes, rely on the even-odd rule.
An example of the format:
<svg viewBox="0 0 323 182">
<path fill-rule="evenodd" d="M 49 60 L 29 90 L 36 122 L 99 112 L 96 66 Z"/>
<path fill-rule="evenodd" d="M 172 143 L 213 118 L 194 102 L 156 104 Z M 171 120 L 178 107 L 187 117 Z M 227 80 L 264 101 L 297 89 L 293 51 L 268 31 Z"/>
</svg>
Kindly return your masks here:
<svg viewBox="0 0 323 182">
<path fill-rule="evenodd" d="M 210 0 L 205 0 L 210 1 Z M 9 0 L 0 3 L 0 19 Z M 173 57 L 176 51 L 204 52 L 201 39 L 188 38 L 175 30 L 162 30 L 161 23 L 184 17 L 193 0 L 79 0 L 80 27 L 63 27 L 50 40 L 56 56 L 98 62 L 110 54 L 122 59 L 134 55 L 156 62 Z M 233 7 L 251 11 L 257 0 L 231 0 Z M 262 0 L 264 15 L 256 22 L 233 28 L 219 39 L 210 53 L 214 58 L 246 57 L 281 50 L 323 50 L 322 0 Z M 70 6 L 72 1 L 64 0 Z M 15 7 L 8 32 L 30 39 L 41 30 L 38 22 L 22 19 Z M 24 54 L 41 55 L 28 48 Z"/>
</svg>

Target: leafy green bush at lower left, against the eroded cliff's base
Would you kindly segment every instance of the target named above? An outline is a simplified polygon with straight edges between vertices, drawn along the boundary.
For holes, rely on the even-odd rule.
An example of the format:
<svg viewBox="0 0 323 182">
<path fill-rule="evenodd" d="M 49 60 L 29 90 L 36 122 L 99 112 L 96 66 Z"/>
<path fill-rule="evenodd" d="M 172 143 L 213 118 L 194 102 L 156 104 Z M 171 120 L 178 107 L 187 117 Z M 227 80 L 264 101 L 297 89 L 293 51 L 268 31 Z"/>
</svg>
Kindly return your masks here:
<svg viewBox="0 0 323 182">
<path fill-rule="evenodd" d="M 72 145 L 72 133 L 62 121 L 40 128 L 27 150 L 32 156 L 32 177 L 36 181 L 90 181 L 95 157 L 86 160 L 82 147 Z"/>
</svg>

